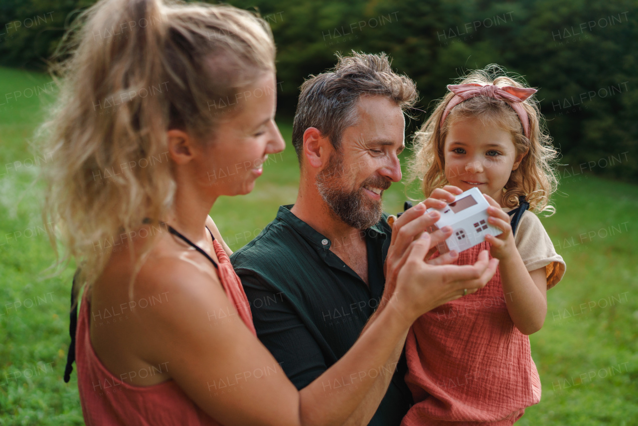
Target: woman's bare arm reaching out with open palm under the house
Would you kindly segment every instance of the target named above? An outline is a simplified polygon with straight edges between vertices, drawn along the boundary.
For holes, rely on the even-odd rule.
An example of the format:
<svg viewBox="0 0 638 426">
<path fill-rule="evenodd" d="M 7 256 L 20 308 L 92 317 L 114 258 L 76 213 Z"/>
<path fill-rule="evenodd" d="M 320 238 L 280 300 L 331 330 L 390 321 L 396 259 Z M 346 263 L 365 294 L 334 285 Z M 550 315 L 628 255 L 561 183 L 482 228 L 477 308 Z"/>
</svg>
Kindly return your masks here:
<svg viewBox="0 0 638 426">
<path fill-rule="evenodd" d="M 496 270 L 486 256 L 473 266 L 429 265 L 423 259 L 430 247 L 429 234 L 409 244 L 396 291 L 376 321 L 300 391 L 241 321 L 205 259 L 145 263 L 136 298 L 161 293 L 167 301 L 137 312 L 127 327 L 137 339 L 131 351 L 149 365 L 165 365 L 198 406 L 226 425 L 341 425 L 376 383 L 359 373 L 383 369 L 420 314 L 459 297 L 464 287 L 482 287 Z M 356 381 L 352 392 L 328 392 L 334 381 L 346 380 Z"/>
</svg>

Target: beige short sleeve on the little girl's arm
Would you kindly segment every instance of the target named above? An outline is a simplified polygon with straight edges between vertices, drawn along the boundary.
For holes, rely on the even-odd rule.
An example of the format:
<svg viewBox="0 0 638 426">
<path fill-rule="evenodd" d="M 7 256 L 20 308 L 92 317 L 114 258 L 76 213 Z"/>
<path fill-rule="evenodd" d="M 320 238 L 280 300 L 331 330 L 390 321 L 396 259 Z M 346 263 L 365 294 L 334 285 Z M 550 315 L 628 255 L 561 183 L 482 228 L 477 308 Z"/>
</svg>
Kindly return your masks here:
<svg viewBox="0 0 638 426">
<path fill-rule="evenodd" d="M 531 211 L 523 213 L 514 241 L 528 271 L 545 266 L 547 289 L 549 290 L 558 284 L 565 275 L 565 261 L 560 254 L 556 253 L 543 224 Z"/>
</svg>

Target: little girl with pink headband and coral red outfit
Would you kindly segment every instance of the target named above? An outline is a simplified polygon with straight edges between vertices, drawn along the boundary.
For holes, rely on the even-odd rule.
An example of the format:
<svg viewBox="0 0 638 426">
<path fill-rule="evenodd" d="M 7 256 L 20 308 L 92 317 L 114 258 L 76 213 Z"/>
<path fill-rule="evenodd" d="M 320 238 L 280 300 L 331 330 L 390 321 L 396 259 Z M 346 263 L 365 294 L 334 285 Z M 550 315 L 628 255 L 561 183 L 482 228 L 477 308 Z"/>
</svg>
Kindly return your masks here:
<svg viewBox="0 0 638 426">
<path fill-rule="evenodd" d="M 500 68 L 475 71 L 448 88 L 417 133 L 412 176 L 424 176 L 424 194 L 444 185 L 454 194 L 477 186 L 491 204 L 489 223 L 503 233 L 461 252 L 457 264 L 474 262 L 485 249 L 500 264 L 486 287 L 413 324 L 406 383 L 415 405 L 403 425 L 511 425 L 540 400 L 528 335 L 542 327 L 545 292 L 565 273 L 565 262 L 531 213 L 553 213 L 549 197 L 556 178 L 549 160 L 556 151 L 530 102 L 536 90 Z M 510 211 L 520 219 L 516 232 Z"/>
</svg>

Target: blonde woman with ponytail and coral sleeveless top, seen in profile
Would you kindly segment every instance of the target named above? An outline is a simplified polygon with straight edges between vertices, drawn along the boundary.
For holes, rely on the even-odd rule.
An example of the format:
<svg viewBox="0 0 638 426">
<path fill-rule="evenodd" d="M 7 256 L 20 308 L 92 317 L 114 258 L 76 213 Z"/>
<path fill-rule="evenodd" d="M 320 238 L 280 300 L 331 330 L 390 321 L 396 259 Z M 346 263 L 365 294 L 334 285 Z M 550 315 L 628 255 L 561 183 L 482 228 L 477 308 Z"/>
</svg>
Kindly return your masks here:
<svg viewBox="0 0 638 426">
<path fill-rule="evenodd" d="M 427 264 L 444 234 L 413 241 L 431 218 L 412 209 L 395 224 L 376 321 L 298 391 L 256 339 L 208 217 L 219 195 L 248 194 L 266 156 L 284 148 L 267 25 L 230 6 L 103 0 L 74 40 L 44 130 L 56 159 L 48 220 L 82 263 L 75 348 L 86 423 L 366 423 L 378 406 L 366 400 L 373 377 L 339 395 L 323 383 L 384 365 L 417 317 L 484 285 L 494 262 Z M 226 167 L 234 179 L 218 179 Z M 218 313 L 234 321 L 211 326 Z"/>
</svg>

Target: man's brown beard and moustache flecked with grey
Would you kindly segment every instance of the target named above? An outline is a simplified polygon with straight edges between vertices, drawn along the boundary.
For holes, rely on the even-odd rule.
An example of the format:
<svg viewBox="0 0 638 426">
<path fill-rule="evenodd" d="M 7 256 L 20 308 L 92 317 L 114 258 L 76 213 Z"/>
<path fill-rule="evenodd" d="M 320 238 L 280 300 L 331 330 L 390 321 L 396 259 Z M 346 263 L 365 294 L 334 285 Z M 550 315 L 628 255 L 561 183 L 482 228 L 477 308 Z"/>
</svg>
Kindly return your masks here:
<svg viewBox="0 0 638 426">
<path fill-rule="evenodd" d="M 364 193 L 364 186 L 386 190 L 390 181 L 379 176 L 367 178 L 360 186 L 346 192 L 350 187 L 348 170 L 340 153 L 332 153 L 326 167 L 315 178 L 317 190 L 332 212 L 349 225 L 360 231 L 368 229 L 381 220 L 382 202 L 371 199 Z"/>
</svg>

